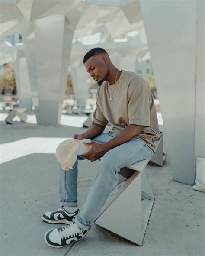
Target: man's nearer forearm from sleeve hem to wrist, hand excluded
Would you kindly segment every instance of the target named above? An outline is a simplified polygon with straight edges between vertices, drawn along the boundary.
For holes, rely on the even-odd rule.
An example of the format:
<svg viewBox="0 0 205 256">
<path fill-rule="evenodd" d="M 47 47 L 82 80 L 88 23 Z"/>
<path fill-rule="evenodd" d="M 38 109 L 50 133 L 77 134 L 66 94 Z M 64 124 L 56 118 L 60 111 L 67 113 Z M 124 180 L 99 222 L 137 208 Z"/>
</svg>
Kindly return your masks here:
<svg viewBox="0 0 205 256">
<path fill-rule="evenodd" d="M 142 131 L 142 129 L 143 129 L 143 126 L 129 124 L 124 130 L 122 130 L 122 132 L 118 136 L 102 144 L 102 147 L 107 150 L 113 149 L 116 146 L 119 146 L 125 142 L 128 142 L 132 138 L 134 138 L 136 135 L 138 135 L 138 133 Z"/>
</svg>

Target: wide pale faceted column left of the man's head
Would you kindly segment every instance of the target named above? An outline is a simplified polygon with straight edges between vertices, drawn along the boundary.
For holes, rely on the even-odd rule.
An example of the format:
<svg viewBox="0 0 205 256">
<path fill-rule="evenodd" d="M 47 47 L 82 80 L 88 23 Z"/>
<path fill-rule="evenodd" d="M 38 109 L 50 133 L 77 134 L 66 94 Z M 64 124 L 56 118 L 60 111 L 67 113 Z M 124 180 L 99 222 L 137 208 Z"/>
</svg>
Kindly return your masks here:
<svg viewBox="0 0 205 256">
<path fill-rule="evenodd" d="M 38 84 L 38 124 L 60 122 L 73 39 L 64 15 L 35 20 L 35 56 Z"/>
</svg>

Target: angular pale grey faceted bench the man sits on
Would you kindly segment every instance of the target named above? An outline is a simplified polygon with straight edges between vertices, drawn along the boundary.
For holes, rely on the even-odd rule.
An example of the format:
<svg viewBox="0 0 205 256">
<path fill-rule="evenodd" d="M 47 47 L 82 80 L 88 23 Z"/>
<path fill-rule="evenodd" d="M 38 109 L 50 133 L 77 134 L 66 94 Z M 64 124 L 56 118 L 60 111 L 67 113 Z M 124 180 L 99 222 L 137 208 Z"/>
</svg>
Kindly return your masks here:
<svg viewBox="0 0 205 256">
<path fill-rule="evenodd" d="M 120 169 L 118 185 L 110 194 L 95 223 L 142 245 L 154 203 L 144 169 L 150 159 Z"/>
</svg>

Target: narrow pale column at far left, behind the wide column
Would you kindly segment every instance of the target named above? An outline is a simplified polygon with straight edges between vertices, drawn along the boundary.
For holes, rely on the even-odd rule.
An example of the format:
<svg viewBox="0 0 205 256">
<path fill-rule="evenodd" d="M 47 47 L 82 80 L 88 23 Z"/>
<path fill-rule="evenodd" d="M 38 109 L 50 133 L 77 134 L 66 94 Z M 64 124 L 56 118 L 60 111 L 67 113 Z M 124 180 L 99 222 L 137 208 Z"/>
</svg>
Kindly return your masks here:
<svg viewBox="0 0 205 256">
<path fill-rule="evenodd" d="M 24 51 L 15 50 L 11 53 L 11 56 L 13 58 L 14 74 L 20 106 L 27 110 L 32 110 L 32 94 Z"/>
</svg>

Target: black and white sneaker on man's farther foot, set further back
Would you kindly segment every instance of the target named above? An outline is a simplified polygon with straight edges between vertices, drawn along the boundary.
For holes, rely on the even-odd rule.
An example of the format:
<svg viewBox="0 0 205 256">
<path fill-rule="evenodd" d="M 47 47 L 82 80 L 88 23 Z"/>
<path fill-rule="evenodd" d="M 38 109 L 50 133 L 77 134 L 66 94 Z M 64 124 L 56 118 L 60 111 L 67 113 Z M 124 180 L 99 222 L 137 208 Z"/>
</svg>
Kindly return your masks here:
<svg viewBox="0 0 205 256">
<path fill-rule="evenodd" d="M 48 223 L 65 223 L 70 224 L 74 222 L 76 215 L 80 210 L 77 209 L 74 213 L 70 214 L 64 210 L 63 207 L 55 210 L 55 211 L 48 211 L 42 216 L 42 220 Z"/>
</svg>

